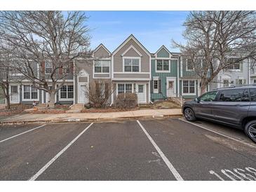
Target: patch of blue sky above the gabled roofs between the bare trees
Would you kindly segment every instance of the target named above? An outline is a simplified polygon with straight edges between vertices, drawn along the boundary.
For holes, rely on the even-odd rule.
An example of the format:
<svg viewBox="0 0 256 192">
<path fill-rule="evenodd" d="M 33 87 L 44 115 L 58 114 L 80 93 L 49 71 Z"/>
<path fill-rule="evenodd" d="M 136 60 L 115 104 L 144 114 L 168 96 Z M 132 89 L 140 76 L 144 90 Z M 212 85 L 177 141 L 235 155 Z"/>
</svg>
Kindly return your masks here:
<svg viewBox="0 0 256 192">
<path fill-rule="evenodd" d="M 151 53 L 165 45 L 177 51 L 171 39 L 184 42 L 182 24 L 187 11 L 86 11 L 90 17 L 91 48 L 103 43 L 115 50 L 130 34 L 133 34 Z"/>
</svg>

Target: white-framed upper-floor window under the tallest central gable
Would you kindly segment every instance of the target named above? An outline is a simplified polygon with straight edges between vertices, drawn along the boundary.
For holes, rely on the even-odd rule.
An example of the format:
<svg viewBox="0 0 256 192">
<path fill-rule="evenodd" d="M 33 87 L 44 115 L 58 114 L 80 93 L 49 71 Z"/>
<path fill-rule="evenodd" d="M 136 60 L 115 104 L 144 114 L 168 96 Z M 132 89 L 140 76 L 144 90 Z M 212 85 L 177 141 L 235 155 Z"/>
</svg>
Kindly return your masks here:
<svg viewBox="0 0 256 192">
<path fill-rule="evenodd" d="M 123 57 L 123 72 L 140 72 L 140 57 Z"/>
</svg>

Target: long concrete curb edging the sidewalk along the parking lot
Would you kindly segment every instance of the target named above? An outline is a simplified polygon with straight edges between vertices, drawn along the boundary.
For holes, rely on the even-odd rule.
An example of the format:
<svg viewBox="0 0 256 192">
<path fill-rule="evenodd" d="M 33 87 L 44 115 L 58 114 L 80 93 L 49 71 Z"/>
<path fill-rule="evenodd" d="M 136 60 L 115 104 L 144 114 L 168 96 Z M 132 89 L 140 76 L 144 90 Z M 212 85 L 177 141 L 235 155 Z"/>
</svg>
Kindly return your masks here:
<svg viewBox="0 0 256 192">
<path fill-rule="evenodd" d="M 181 117 L 182 114 L 170 114 L 170 115 L 157 115 L 157 116 L 128 116 L 119 118 L 66 118 L 66 119 L 55 119 L 55 120 L 45 120 L 45 121 L 8 121 L 0 122 L 0 125 L 29 125 L 29 124 L 48 124 L 48 123 L 86 123 L 86 122 L 106 122 L 106 121 L 125 121 L 125 120 L 137 120 L 137 119 L 161 119 L 168 117 Z"/>
</svg>

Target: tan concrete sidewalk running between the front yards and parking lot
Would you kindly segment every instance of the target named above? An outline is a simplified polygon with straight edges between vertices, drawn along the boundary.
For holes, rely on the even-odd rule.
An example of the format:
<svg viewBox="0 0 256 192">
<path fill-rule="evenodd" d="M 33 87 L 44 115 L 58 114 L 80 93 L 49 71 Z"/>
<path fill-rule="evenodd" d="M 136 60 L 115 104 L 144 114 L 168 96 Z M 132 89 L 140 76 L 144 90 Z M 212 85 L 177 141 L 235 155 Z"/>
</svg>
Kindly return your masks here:
<svg viewBox="0 0 256 192">
<path fill-rule="evenodd" d="M 110 113 L 74 113 L 74 114 L 23 114 L 4 118 L 1 125 L 23 123 L 60 123 L 60 122 L 88 122 L 88 121 L 117 121 L 136 118 L 161 118 L 168 116 L 182 116 L 181 109 L 142 109 L 136 111 L 122 111 Z"/>
</svg>

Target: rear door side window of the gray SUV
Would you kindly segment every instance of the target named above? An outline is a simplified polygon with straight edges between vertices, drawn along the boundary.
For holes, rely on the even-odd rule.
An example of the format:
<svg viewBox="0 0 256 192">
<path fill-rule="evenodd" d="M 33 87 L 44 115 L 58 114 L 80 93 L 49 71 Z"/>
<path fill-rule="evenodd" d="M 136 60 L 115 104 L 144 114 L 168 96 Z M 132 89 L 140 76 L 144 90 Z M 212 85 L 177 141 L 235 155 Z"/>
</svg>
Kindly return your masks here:
<svg viewBox="0 0 256 192">
<path fill-rule="evenodd" d="M 220 102 L 241 102 L 243 91 L 243 89 L 222 90 L 220 94 Z"/>
</svg>

